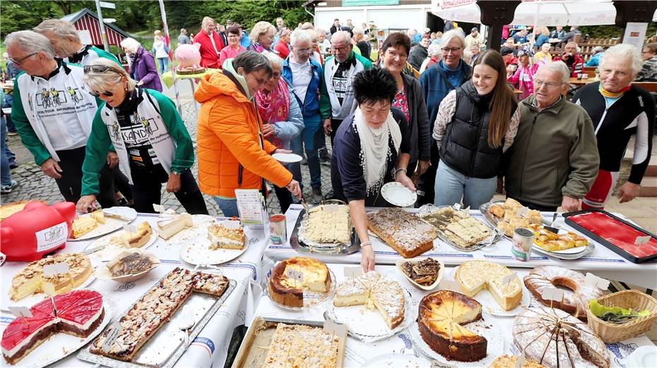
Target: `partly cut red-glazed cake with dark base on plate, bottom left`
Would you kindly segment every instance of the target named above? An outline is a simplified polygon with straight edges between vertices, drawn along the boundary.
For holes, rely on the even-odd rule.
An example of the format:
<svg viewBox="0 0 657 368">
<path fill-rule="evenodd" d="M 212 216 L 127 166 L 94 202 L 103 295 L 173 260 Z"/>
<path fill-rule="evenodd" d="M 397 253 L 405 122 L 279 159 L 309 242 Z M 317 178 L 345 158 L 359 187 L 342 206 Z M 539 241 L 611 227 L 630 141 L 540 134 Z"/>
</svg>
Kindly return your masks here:
<svg viewBox="0 0 657 368">
<path fill-rule="evenodd" d="M 46 367 L 92 341 L 112 319 L 109 304 L 95 290 L 73 290 L 30 307 L 2 329 L 5 366 Z M 55 310 L 57 309 L 57 314 Z"/>
</svg>

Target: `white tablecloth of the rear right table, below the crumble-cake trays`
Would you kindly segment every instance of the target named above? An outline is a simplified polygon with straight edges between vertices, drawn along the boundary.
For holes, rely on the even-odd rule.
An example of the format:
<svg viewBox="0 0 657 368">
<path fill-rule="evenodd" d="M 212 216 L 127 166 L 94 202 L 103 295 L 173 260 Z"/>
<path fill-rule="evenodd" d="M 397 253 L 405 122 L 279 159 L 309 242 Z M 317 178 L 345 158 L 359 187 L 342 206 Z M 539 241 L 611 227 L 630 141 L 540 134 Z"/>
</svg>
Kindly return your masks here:
<svg viewBox="0 0 657 368">
<path fill-rule="evenodd" d="M 266 247 L 263 265 L 265 270 L 271 269 L 271 266 L 276 261 L 297 257 L 300 254 L 292 249 L 289 240 L 302 209 L 303 207 L 300 204 L 292 204 L 290 209 L 285 213 L 288 223 L 288 242 L 283 245 L 269 244 Z M 417 211 L 417 209 L 407 210 L 411 212 Z M 470 214 L 484 221 L 480 211 L 471 210 Z M 543 215 L 551 221 L 552 214 L 544 213 Z M 563 219 L 557 220 L 557 223 L 560 223 L 563 228 L 569 228 L 574 231 L 574 229 L 563 222 Z M 399 259 L 399 254 L 379 240 L 379 238 L 371 236 L 369 240 L 372 241 L 377 264 L 395 264 L 397 259 Z M 657 289 L 657 262 L 634 264 L 612 252 L 604 245 L 600 245 L 591 239 L 588 239 L 588 241 L 595 244 L 596 249 L 585 257 L 572 261 L 548 257 L 535 250 L 532 252 L 531 261 L 517 261 L 511 256 L 511 241 L 506 238 L 502 238 L 502 240 L 491 247 L 485 247 L 474 252 L 461 252 L 442 240 L 436 239 L 434 240 L 433 250 L 423 253 L 422 256 L 437 257 L 445 264 L 451 265 L 458 265 L 472 259 L 487 259 L 509 267 L 534 268 L 535 266 L 543 265 L 563 266 L 579 271 L 591 271 L 600 277 L 610 280 L 625 281 L 644 288 Z M 327 263 L 360 264 L 360 251 L 353 254 L 313 254 L 313 257 Z"/>
</svg>

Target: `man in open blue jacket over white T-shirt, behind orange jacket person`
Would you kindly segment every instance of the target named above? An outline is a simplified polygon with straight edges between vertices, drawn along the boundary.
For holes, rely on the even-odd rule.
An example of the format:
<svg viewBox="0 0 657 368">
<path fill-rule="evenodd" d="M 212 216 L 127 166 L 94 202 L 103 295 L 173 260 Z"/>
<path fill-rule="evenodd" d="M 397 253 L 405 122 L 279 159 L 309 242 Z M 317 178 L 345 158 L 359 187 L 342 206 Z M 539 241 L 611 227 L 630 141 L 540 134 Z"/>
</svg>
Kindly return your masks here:
<svg viewBox="0 0 657 368">
<path fill-rule="evenodd" d="M 292 93 L 303 112 L 304 130 L 299 137 L 292 140 L 292 152 L 302 154 L 305 148 L 310 171 L 310 186 L 313 202 L 324 200 L 321 193 L 321 168 L 319 165 L 319 147 L 324 140 L 319 115 L 319 88 L 321 87 L 321 65 L 310 58 L 314 51 L 312 36 L 306 30 L 297 29 L 290 37 L 292 52 L 283 61 L 283 78 L 292 85 Z M 302 143 L 303 142 L 303 143 Z M 299 164 L 292 165 L 295 180 L 301 183 Z"/>
</svg>

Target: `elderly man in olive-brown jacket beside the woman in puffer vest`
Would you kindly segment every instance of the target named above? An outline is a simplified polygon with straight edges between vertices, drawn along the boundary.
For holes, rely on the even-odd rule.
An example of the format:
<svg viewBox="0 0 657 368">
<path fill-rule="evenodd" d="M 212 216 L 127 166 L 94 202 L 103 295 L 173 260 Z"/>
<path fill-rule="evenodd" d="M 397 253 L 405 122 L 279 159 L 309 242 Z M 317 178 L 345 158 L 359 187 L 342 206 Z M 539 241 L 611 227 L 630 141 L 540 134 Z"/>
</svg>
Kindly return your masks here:
<svg viewBox="0 0 657 368">
<path fill-rule="evenodd" d="M 507 150 L 507 196 L 539 211 L 576 211 L 598 175 L 593 123 L 569 102 L 569 70 L 552 61 L 534 75 L 534 91 L 520 102 L 520 124 Z"/>
</svg>

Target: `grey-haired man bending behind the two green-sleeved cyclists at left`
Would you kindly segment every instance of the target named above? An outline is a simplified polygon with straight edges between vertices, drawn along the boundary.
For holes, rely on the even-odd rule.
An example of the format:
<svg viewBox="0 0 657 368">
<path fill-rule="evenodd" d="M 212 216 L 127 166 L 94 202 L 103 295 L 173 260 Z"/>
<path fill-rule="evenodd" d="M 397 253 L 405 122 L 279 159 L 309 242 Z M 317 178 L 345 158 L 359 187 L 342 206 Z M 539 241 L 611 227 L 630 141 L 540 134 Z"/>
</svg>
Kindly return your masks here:
<svg viewBox="0 0 657 368">
<path fill-rule="evenodd" d="M 90 44 L 82 44 L 76 27 L 73 23 L 66 22 L 66 20 L 47 19 L 34 27 L 33 30 L 48 37 L 57 57 L 61 59 L 68 58 L 66 61 L 69 63 L 85 66 L 95 59 L 105 58 L 121 65 L 119 59 L 109 54 L 109 52 Z"/>
</svg>

